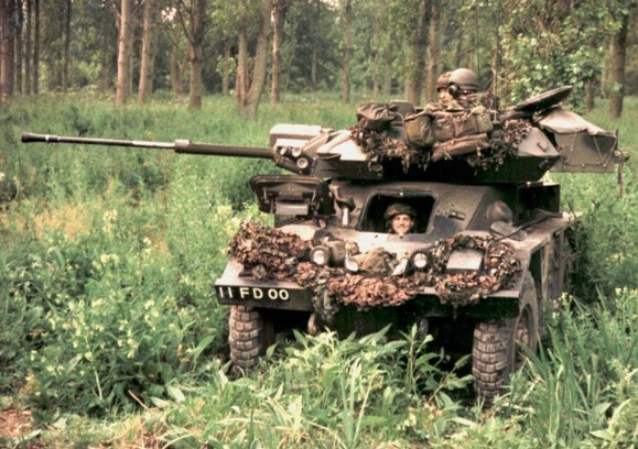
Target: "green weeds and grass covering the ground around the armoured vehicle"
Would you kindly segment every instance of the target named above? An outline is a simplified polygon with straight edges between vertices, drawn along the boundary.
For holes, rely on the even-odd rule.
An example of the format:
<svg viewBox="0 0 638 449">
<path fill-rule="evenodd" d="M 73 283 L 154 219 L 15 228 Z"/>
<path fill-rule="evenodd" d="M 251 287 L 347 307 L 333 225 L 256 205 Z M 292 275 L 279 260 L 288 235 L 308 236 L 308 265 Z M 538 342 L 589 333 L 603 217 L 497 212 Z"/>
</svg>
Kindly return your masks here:
<svg viewBox="0 0 638 449">
<path fill-rule="evenodd" d="M 161 151 L 31 145 L 21 131 L 264 145 L 275 122 L 355 121 L 336 98 L 291 97 L 255 121 L 230 98 L 202 112 L 156 100 L 115 109 L 40 96 L 0 110 L 0 394 L 32 432 L 0 446 L 630 447 L 638 439 L 636 161 L 616 175 L 552 175 L 581 210 L 576 297 L 553 310 L 542 350 L 489 412 L 469 397 L 466 360 L 408 329 L 338 341 L 280 341 L 229 381 L 227 310 L 215 278 L 242 220 L 262 216 L 248 179 L 268 162 Z M 590 118 L 638 144 L 629 118 Z M 604 106 L 602 110 L 606 110 Z M 636 156 L 636 154 L 634 154 Z"/>
</svg>

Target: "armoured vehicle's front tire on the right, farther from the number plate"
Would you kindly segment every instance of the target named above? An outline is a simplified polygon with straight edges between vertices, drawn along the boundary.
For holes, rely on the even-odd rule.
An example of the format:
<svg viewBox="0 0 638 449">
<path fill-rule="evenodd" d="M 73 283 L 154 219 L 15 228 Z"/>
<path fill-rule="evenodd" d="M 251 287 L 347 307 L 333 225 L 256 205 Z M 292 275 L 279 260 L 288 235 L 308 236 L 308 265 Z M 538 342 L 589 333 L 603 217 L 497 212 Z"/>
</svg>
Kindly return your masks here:
<svg viewBox="0 0 638 449">
<path fill-rule="evenodd" d="M 527 347 L 538 349 L 539 305 L 531 274 L 526 273 L 519 300 L 519 315 L 477 322 L 472 348 L 472 374 L 477 398 L 491 406 L 508 383 L 509 375 L 522 366 Z M 518 343 L 518 344 L 517 344 Z"/>
</svg>

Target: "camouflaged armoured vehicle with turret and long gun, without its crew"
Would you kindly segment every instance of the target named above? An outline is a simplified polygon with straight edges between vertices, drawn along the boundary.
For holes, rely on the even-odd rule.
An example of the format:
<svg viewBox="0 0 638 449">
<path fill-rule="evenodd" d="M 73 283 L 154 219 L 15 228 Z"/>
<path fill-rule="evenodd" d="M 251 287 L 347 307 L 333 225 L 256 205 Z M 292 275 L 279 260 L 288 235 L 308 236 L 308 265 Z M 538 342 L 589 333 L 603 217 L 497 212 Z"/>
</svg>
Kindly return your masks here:
<svg viewBox="0 0 638 449">
<path fill-rule="evenodd" d="M 537 349 L 542 310 L 570 269 L 561 191 L 550 169 L 610 172 L 613 133 L 561 108 L 570 87 L 513 107 L 365 105 L 357 125 L 278 124 L 268 147 L 24 133 L 23 142 L 154 147 L 272 158 L 291 175 L 251 179 L 274 228 L 242 225 L 215 283 L 230 307 L 230 358 L 250 369 L 275 336 L 418 326 L 472 351 L 490 403 Z M 403 231 L 396 217 L 405 220 Z"/>
</svg>

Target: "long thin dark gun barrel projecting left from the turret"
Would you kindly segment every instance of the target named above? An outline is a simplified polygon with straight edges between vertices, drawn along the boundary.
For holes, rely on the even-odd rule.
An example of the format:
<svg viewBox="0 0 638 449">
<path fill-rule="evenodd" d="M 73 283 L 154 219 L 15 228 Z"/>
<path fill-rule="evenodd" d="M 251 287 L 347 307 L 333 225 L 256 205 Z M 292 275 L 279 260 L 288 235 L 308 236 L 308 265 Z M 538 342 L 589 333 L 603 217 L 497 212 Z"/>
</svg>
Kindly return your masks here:
<svg viewBox="0 0 638 449">
<path fill-rule="evenodd" d="M 101 146 L 132 146 L 137 149 L 159 149 L 173 150 L 175 153 L 203 154 L 212 156 L 234 156 L 272 160 L 273 150 L 261 146 L 234 146 L 214 145 L 208 143 L 193 143 L 188 140 L 176 140 L 175 142 L 150 142 L 150 141 L 126 141 L 116 139 L 91 139 L 91 138 L 68 138 L 53 134 L 34 134 L 23 132 L 21 136 L 23 143 L 75 143 Z"/>
</svg>

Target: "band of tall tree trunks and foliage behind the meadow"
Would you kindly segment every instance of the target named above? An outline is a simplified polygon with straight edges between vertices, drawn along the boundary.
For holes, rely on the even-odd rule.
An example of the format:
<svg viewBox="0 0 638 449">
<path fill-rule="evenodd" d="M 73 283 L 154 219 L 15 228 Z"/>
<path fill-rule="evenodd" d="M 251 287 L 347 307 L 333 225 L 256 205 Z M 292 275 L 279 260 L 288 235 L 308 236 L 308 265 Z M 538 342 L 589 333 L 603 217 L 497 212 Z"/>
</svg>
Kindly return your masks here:
<svg viewBox="0 0 638 449">
<path fill-rule="evenodd" d="M 504 101 L 572 85 L 588 110 L 638 89 L 636 0 L 0 0 L 0 95 L 87 90 L 369 92 L 422 105 L 442 72 L 475 70 Z M 187 91 L 187 92 L 186 92 Z"/>
</svg>

